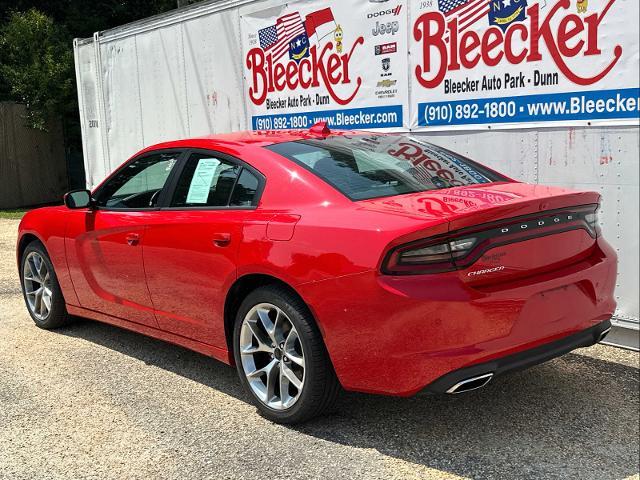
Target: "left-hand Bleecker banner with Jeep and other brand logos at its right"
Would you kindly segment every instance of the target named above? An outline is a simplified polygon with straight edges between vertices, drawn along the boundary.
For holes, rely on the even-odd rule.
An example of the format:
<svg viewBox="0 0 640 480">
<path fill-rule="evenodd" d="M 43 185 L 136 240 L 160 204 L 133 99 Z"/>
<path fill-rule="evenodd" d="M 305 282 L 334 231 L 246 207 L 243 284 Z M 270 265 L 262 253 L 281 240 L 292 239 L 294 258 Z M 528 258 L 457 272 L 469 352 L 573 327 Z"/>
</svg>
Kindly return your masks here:
<svg viewBox="0 0 640 480">
<path fill-rule="evenodd" d="M 294 2 L 241 15 L 254 130 L 408 125 L 405 1 Z"/>
</svg>

